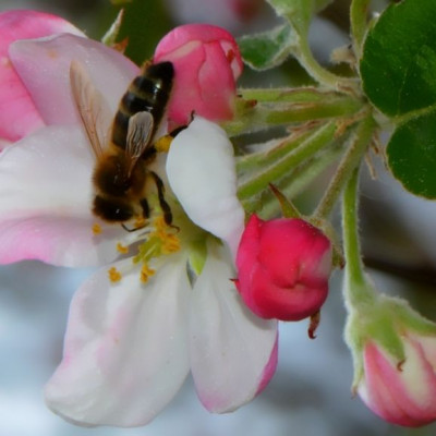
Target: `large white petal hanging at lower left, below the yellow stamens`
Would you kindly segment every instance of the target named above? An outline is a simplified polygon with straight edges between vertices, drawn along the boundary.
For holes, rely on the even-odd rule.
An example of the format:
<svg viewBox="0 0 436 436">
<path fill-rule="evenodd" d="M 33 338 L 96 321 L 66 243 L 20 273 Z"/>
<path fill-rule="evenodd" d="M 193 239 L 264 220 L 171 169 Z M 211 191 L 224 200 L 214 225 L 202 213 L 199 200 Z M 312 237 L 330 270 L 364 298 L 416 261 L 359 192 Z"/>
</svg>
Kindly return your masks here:
<svg viewBox="0 0 436 436">
<path fill-rule="evenodd" d="M 106 269 L 85 282 L 71 306 L 62 363 L 46 387 L 49 408 L 81 425 L 149 422 L 189 373 L 187 287 L 180 257 L 147 286 L 137 270 L 116 286 Z"/>
</svg>

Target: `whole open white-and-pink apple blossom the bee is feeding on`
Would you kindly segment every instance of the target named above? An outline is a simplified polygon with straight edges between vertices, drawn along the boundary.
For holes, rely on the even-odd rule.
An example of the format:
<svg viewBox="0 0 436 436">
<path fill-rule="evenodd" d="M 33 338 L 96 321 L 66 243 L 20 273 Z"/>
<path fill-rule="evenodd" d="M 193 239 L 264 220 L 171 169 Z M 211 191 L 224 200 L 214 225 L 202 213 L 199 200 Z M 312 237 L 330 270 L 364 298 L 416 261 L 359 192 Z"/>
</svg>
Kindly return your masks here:
<svg viewBox="0 0 436 436">
<path fill-rule="evenodd" d="M 209 411 L 250 401 L 275 372 L 277 324 L 247 311 L 230 280 L 244 213 L 225 132 L 194 117 L 153 164 L 175 227 L 150 193 L 150 219 L 126 232 L 92 213 L 95 158 L 70 66 L 82 64 L 107 104 L 96 129 L 110 125 L 138 68 L 72 34 L 16 40 L 9 52 L 46 125 L 0 155 L 0 262 L 100 267 L 73 298 L 47 404 L 81 425 L 143 425 L 190 371 Z"/>
</svg>

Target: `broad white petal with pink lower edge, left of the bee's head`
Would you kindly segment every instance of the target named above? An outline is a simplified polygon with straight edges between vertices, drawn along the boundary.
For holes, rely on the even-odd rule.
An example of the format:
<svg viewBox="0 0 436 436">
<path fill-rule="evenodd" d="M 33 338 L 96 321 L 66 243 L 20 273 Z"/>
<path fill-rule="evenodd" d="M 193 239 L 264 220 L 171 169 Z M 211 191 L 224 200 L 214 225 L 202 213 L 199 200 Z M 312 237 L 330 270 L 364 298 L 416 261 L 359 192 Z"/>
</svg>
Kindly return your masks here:
<svg viewBox="0 0 436 436">
<path fill-rule="evenodd" d="M 80 126 L 43 128 L 0 155 L 0 263 L 89 266 L 117 256 L 121 228 L 95 237 L 94 159 Z"/>
</svg>

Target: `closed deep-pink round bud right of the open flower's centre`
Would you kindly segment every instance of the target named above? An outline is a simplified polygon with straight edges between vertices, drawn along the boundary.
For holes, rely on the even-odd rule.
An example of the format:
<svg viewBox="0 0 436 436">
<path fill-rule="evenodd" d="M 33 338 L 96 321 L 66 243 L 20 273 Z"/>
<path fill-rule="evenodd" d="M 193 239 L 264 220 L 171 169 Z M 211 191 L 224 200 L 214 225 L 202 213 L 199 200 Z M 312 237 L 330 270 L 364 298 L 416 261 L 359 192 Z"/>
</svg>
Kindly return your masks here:
<svg viewBox="0 0 436 436">
<path fill-rule="evenodd" d="M 263 318 L 300 320 L 315 314 L 328 292 L 331 244 L 302 219 L 250 218 L 237 255 L 237 287 Z"/>
</svg>

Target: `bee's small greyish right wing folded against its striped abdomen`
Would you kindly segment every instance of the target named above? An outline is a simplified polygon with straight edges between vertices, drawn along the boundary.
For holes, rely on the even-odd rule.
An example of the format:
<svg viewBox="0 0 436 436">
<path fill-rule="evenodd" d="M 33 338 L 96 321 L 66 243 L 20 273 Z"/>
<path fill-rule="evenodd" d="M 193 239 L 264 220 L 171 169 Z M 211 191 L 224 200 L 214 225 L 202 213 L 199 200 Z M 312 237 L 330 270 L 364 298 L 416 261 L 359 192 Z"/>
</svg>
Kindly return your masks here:
<svg viewBox="0 0 436 436">
<path fill-rule="evenodd" d="M 137 112 L 130 118 L 125 147 L 125 155 L 130 159 L 130 171 L 152 144 L 154 124 L 149 112 Z"/>
</svg>

